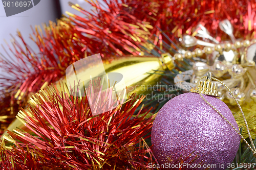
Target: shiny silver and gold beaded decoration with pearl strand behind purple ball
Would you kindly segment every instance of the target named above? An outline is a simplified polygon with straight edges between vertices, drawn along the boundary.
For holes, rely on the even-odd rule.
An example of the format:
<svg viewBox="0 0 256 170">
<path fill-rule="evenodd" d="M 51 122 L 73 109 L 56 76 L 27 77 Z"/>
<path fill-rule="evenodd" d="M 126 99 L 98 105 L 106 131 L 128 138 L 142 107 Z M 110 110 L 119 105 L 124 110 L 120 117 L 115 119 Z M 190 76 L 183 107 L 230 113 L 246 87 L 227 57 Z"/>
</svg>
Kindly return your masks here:
<svg viewBox="0 0 256 170">
<path fill-rule="evenodd" d="M 247 70 L 254 68 L 255 66 L 255 62 L 253 61 L 255 39 L 237 40 L 233 34 L 233 26 L 227 19 L 219 22 L 219 28 L 229 35 L 231 42 L 215 41 L 214 38 L 210 36 L 209 31 L 201 23 L 199 23 L 195 28 L 192 36 L 183 35 L 182 39 L 180 39 L 181 45 L 184 47 L 206 45 L 203 50 L 192 47 L 192 49 L 195 49 L 190 52 L 192 56 L 205 56 L 207 61 L 197 61 L 193 64 L 194 74 L 191 75 L 190 83 L 196 83 L 197 80 L 201 76 L 205 75 L 207 71 L 211 71 L 215 77 L 221 78 L 229 88 L 240 88 L 242 91 L 245 90 L 244 93 L 236 95 L 240 105 L 243 105 L 246 101 L 249 102 L 250 99 L 253 99 L 249 98 L 253 95 L 253 93 L 250 93 L 249 91 L 252 90 L 250 83 L 252 85 L 254 85 L 254 83 L 248 75 Z M 194 36 L 198 36 L 203 39 L 198 40 Z M 214 43 L 209 44 L 207 39 Z M 198 51 L 200 53 L 199 55 L 196 55 L 198 54 Z M 186 53 L 188 53 L 188 51 L 186 51 Z M 185 54 L 175 54 L 175 56 L 180 56 L 180 60 L 182 60 L 182 58 L 186 58 Z M 228 74 L 226 74 L 226 72 L 228 72 Z M 178 84 L 176 83 L 176 86 Z M 236 102 L 232 99 L 232 96 L 228 94 L 229 92 L 226 88 L 224 88 L 221 83 L 218 83 L 218 85 L 218 90 L 223 94 L 222 100 L 230 105 L 235 105 Z M 193 85 L 189 86 L 192 87 Z M 250 94 L 245 95 L 246 93 Z"/>
</svg>

